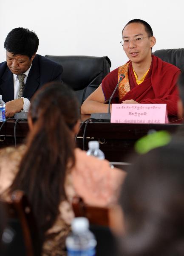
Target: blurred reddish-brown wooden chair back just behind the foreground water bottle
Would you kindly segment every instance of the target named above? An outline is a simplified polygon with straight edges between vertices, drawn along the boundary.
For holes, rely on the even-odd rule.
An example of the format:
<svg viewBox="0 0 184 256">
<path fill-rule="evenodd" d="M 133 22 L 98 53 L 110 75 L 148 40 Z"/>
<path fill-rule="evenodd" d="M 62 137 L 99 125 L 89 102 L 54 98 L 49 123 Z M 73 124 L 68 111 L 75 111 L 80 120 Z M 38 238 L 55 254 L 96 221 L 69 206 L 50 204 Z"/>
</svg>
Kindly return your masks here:
<svg viewBox="0 0 184 256">
<path fill-rule="evenodd" d="M 96 207 L 85 204 L 82 198 L 74 197 L 72 201 L 75 217 L 86 217 L 90 224 L 110 226 L 108 207 Z"/>
</svg>

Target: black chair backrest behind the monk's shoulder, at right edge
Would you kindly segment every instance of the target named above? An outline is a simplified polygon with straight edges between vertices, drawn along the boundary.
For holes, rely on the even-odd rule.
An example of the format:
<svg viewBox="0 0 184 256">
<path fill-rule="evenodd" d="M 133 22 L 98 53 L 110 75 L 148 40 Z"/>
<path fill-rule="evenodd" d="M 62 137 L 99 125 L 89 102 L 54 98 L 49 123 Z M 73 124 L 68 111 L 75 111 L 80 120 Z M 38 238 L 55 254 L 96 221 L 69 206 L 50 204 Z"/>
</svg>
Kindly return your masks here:
<svg viewBox="0 0 184 256">
<path fill-rule="evenodd" d="M 180 70 L 184 70 L 184 48 L 178 49 L 161 49 L 153 52 L 154 55 L 163 61 L 175 65 Z"/>
</svg>

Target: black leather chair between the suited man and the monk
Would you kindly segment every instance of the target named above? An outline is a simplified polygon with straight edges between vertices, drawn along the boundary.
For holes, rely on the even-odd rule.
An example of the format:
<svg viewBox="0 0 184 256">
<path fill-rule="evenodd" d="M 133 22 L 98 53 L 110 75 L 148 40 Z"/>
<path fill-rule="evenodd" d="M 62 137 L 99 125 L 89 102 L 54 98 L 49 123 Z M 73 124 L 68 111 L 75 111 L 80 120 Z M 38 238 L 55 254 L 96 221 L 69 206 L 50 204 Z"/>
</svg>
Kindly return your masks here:
<svg viewBox="0 0 184 256">
<path fill-rule="evenodd" d="M 45 55 L 45 57 L 62 65 L 62 81 L 75 90 L 80 106 L 101 84 L 111 67 L 110 59 L 107 56 Z"/>
</svg>

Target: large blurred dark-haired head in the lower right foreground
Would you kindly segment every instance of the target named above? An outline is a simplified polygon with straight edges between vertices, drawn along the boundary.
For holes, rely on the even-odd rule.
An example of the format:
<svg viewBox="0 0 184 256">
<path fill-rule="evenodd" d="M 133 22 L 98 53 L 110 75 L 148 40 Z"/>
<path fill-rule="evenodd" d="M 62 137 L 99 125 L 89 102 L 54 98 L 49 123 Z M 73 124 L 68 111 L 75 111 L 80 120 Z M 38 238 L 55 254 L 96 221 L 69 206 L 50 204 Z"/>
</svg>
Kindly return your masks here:
<svg viewBox="0 0 184 256">
<path fill-rule="evenodd" d="M 123 214 L 116 216 L 122 255 L 184 255 L 183 157 L 184 141 L 175 140 L 128 170 L 119 199 Z"/>
</svg>

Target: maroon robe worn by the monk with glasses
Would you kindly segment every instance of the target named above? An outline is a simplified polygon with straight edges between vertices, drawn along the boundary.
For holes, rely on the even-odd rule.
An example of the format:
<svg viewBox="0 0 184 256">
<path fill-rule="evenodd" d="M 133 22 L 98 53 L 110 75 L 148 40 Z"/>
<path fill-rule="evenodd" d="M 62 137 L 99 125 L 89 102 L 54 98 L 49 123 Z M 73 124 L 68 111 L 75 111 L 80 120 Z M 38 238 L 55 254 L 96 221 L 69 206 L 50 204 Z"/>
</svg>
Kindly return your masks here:
<svg viewBox="0 0 184 256">
<path fill-rule="evenodd" d="M 110 98 L 118 83 L 119 68 L 110 72 L 102 81 L 102 90 L 106 100 Z M 166 103 L 168 114 L 177 115 L 178 89 L 176 81 L 179 74 L 180 70 L 176 66 L 152 55 L 150 70 L 144 81 L 138 85 L 130 62 L 128 79 L 131 90 L 122 98 L 119 98 L 117 90 L 112 103 L 122 103 L 126 99 L 133 99 L 139 103 Z"/>
</svg>

